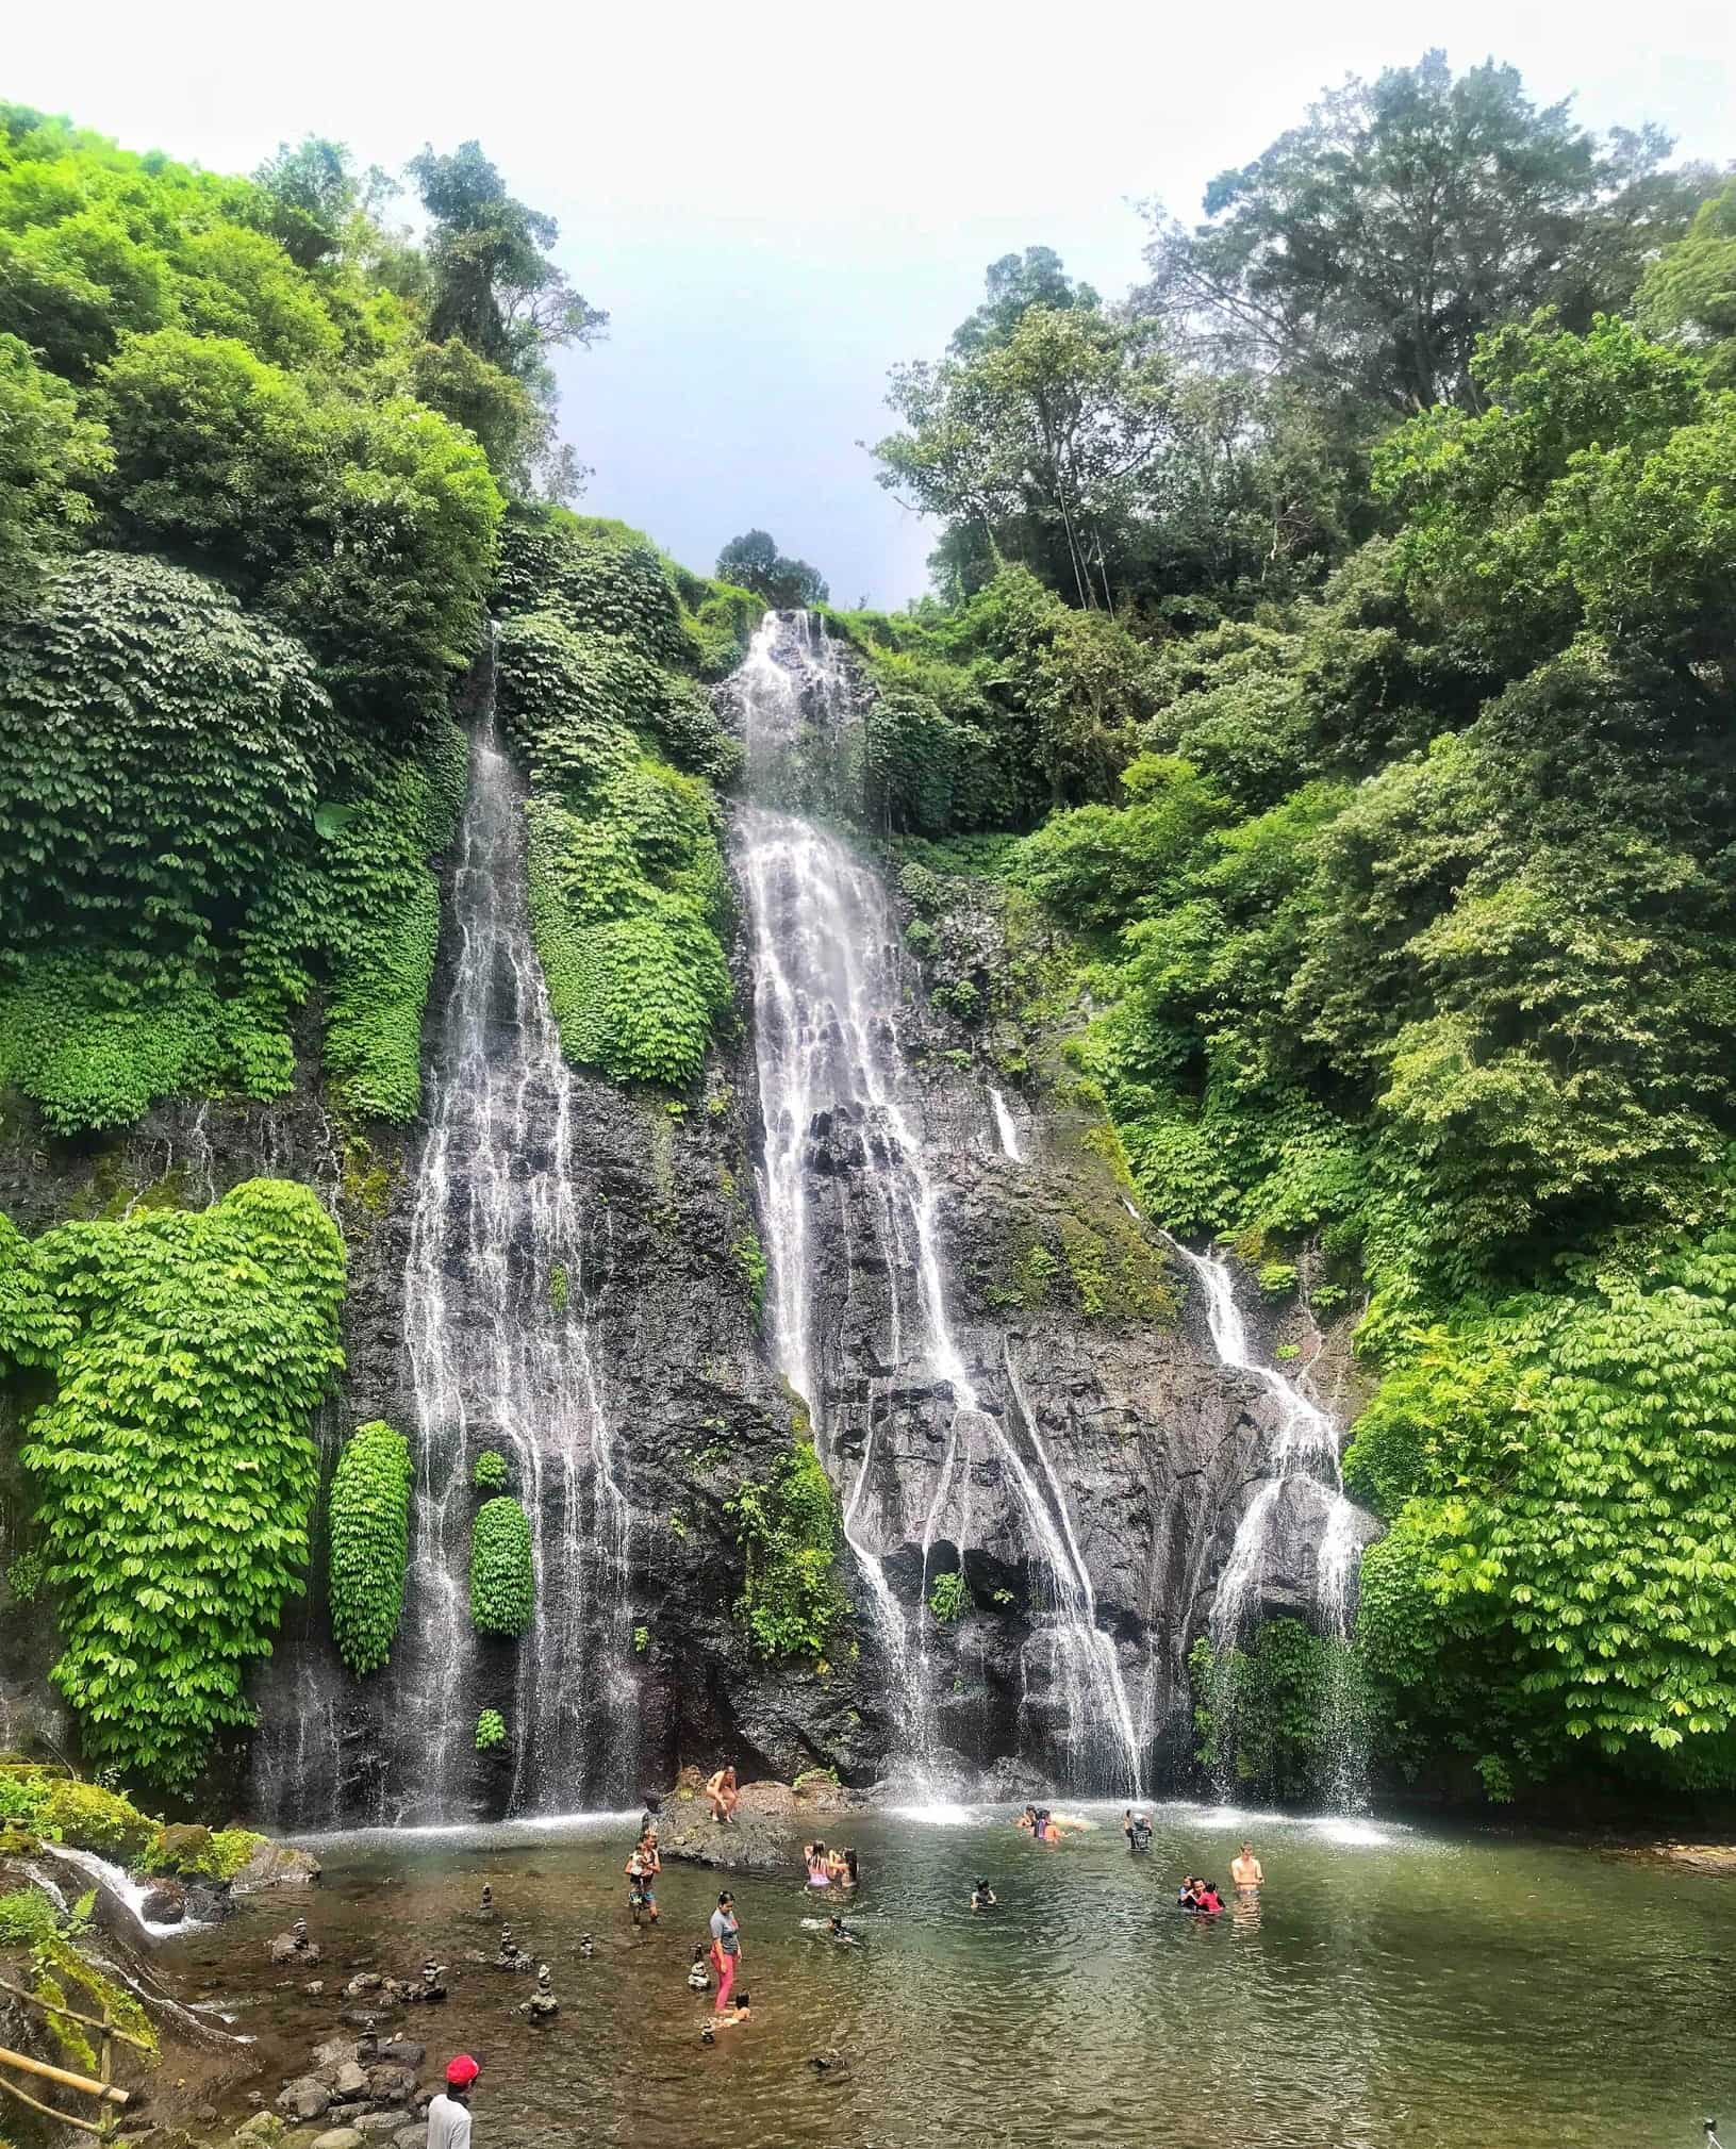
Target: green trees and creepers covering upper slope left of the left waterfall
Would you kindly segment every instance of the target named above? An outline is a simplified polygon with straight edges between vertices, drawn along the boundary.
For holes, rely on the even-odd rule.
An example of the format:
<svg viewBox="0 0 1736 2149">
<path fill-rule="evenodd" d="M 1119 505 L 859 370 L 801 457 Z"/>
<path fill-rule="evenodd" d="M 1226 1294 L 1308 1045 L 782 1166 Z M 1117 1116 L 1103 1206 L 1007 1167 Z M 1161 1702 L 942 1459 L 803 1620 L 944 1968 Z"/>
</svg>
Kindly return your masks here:
<svg viewBox="0 0 1736 2149">
<path fill-rule="evenodd" d="M 604 316 L 477 144 L 413 178 L 421 245 L 331 142 L 221 178 L 0 107 L 0 1081 L 56 1133 L 284 1092 L 316 995 L 344 1109 L 417 1111 L 447 703 Z"/>
</svg>

